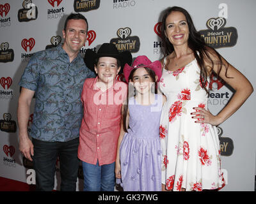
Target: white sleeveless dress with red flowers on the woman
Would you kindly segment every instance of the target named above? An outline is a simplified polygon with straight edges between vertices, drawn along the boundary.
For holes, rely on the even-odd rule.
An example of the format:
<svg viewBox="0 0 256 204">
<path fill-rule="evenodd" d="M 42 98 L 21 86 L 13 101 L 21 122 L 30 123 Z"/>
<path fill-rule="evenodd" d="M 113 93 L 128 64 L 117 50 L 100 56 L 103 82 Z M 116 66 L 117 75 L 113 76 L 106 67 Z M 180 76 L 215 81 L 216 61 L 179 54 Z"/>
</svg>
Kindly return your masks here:
<svg viewBox="0 0 256 204">
<path fill-rule="evenodd" d="M 196 59 L 177 71 L 163 69 L 159 87 L 167 98 L 160 122 L 162 184 L 173 191 L 225 186 L 216 127 L 195 123 L 190 114 L 193 107 L 207 110 Z"/>
</svg>

